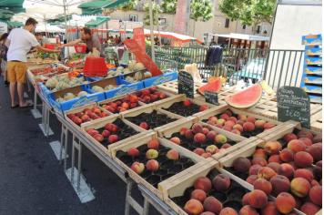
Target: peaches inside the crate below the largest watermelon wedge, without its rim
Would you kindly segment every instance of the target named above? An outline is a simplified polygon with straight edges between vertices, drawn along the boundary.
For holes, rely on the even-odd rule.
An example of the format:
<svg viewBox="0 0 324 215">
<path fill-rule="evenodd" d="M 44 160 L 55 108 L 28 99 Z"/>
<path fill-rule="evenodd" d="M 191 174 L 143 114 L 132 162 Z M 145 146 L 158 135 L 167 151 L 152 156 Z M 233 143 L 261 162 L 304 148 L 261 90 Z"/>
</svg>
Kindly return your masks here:
<svg viewBox="0 0 324 215">
<path fill-rule="evenodd" d="M 245 138 L 255 137 L 263 131 L 276 126 L 263 119 L 253 118 L 243 114 L 235 114 L 230 109 L 208 119 L 203 119 L 202 121 Z"/>
</svg>

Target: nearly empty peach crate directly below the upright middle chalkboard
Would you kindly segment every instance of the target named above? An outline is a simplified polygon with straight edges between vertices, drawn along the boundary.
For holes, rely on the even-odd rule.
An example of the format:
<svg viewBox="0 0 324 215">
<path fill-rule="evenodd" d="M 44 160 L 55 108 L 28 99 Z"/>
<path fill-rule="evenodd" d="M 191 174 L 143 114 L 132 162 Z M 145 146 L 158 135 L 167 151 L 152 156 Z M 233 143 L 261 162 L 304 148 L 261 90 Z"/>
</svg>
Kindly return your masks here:
<svg viewBox="0 0 324 215">
<path fill-rule="evenodd" d="M 218 108 L 200 100 L 187 98 L 184 94 L 168 97 L 163 101 L 158 101 L 156 104 L 157 108 L 167 110 L 182 117 L 190 117 L 209 108 Z"/>
</svg>

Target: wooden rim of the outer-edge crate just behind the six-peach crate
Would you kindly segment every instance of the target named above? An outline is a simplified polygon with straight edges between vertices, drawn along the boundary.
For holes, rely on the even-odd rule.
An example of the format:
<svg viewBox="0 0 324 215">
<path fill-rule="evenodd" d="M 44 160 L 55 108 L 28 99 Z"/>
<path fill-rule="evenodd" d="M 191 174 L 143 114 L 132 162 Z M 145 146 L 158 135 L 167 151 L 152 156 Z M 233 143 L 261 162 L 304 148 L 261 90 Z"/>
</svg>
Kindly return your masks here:
<svg viewBox="0 0 324 215">
<path fill-rule="evenodd" d="M 117 141 L 116 143 L 113 143 L 113 144 L 110 144 L 108 145 L 108 147 L 105 147 L 103 146 L 101 143 L 99 143 L 98 141 L 96 141 L 95 138 L 93 138 L 92 136 L 90 136 L 88 133 L 86 133 L 86 131 L 90 128 L 94 128 L 94 129 L 99 129 L 99 128 L 104 128 L 106 126 L 107 123 L 109 122 L 114 122 L 117 118 L 120 118 L 119 115 L 112 115 L 112 116 L 109 116 L 107 118 L 100 118 L 100 119 L 97 119 L 96 121 L 92 121 L 92 122 L 86 122 L 82 125 L 81 127 L 81 132 L 86 136 L 86 138 L 90 139 L 95 145 L 96 147 L 100 148 L 101 150 L 103 150 L 106 155 L 108 155 L 109 157 L 111 157 L 111 148 L 114 148 L 116 147 L 117 145 L 119 144 L 122 144 L 124 142 L 128 142 L 132 139 L 136 139 L 136 138 L 139 138 L 143 135 L 147 135 L 149 133 L 152 133 L 153 130 L 146 130 L 146 129 L 143 129 L 143 128 L 139 128 L 139 127 L 133 127 L 132 124 L 130 124 L 129 121 L 127 121 L 126 119 L 124 118 L 121 118 L 121 120 L 123 120 L 123 122 L 125 124 L 127 124 L 129 127 L 131 128 L 134 128 L 135 130 L 137 130 L 139 133 L 137 135 L 134 135 L 132 137 L 129 137 L 129 138 L 125 138 L 125 139 L 122 139 L 122 140 L 119 140 Z M 154 132 L 155 133 L 155 132 Z"/>
</svg>

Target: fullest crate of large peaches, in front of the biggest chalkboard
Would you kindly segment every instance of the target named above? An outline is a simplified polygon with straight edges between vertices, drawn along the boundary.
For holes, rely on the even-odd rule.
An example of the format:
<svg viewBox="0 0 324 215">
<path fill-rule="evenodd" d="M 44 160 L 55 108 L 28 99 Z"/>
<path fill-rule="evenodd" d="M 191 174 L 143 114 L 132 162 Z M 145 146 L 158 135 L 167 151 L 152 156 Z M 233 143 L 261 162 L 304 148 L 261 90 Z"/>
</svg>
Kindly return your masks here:
<svg viewBox="0 0 324 215">
<path fill-rule="evenodd" d="M 268 214 L 316 214 L 322 205 L 322 137 L 288 122 L 277 133 L 218 159 L 219 166 L 276 200 Z M 266 204 L 265 198 L 260 201 Z"/>
</svg>

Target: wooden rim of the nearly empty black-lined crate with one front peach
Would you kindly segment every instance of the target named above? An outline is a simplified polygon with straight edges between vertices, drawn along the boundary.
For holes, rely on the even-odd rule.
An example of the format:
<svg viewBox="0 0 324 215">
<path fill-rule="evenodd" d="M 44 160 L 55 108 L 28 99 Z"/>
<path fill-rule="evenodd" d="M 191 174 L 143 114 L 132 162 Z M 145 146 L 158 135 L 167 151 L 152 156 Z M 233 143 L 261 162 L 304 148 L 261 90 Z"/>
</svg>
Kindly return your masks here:
<svg viewBox="0 0 324 215">
<path fill-rule="evenodd" d="M 160 109 L 160 108 L 157 108 L 155 104 L 148 104 L 146 106 L 142 106 L 142 107 L 138 107 L 136 109 L 130 109 L 130 110 L 127 110 L 125 112 L 122 112 L 120 113 L 120 116 L 122 118 L 131 118 L 131 117 L 137 117 L 138 115 L 140 114 L 143 114 L 143 113 L 152 113 L 154 110 L 157 111 L 157 114 L 165 114 L 167 115 L 167 117 L 169 118 L 177 118 L 178 119 L 182 119 L 184 117 L 182 116 L 179 116 L 177 114 L 174 114 L 174 113 L 171 113 L 171 112 L 167 112 L 166 110 L 163 110 L 163 109 Z M 131 121 L 129 121 L 130 123 L 132 123 Z M 170 123 L 167 123 L 166 125 L 163 125 L 163 126 L 160 126 L 160 127 L 157 127 L 158 128 L 164 128 L 164 127 L 167 127 L 169 124 L 173 124 L 173 123 L 177 123 L 177 121 L 174 121 L 174 122 L 170 122 Z M 136 125 L 134 123 L 132 123 L 134 126 L 139 126 L 139 125 Z M 156 128 L 151 128 L 151 129 L 154 129 L 156 130 Z"/>
</svg>

